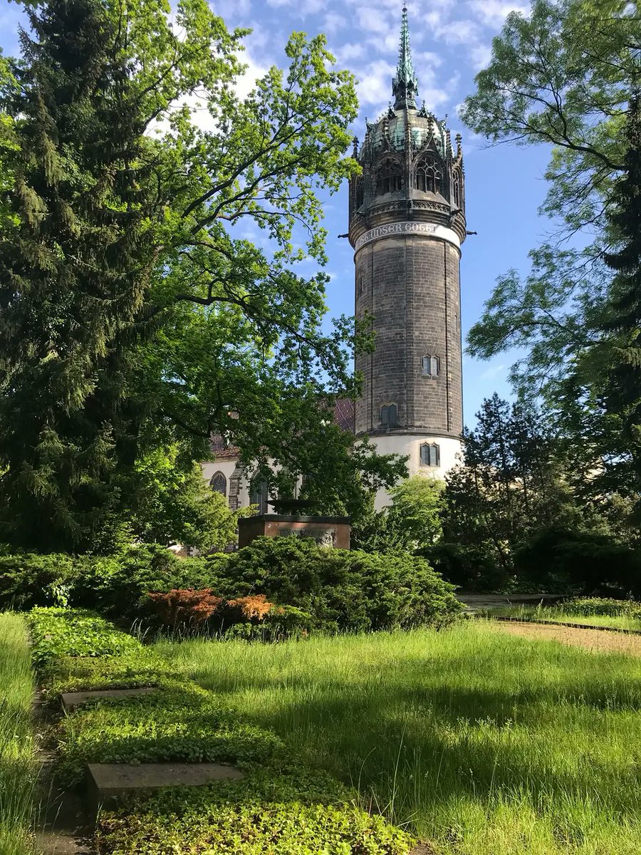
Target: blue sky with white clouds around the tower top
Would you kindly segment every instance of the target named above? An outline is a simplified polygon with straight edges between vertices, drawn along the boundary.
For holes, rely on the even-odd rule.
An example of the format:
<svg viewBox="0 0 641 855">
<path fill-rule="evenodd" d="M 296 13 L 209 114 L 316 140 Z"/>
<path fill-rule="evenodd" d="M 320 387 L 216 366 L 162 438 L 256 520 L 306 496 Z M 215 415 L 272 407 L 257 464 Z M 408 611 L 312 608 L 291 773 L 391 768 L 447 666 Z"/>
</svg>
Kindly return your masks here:
<svg viewBox="0 0 641 855">
<path fill-rule="evenodd" d="M 289 33 L 325 32 L 330 48 L 343 68 L 358 82 L 361 103 L 354 133 L 362 138 L 365 117 L 376 119 L 391 97 L 391 76 L 397 62 L 401 22 L 400 0 L 221 0 L 213 3 L 230 27 L 252 27 L 244 62 L 248 78 L 260 76 L 273 63 L 283 65 Z M 449 116 L 452 135 L 463 135 L 466 168 L 468 228 L 478 232 L 463 245 L 463 334 L 479 317 L 497 276 L 509 268 L 526 272 L 527 253 L 550 231 L 550 222 L 538 217 L 543 201 L 544 168 L 550 151 L 514 145 L 488 148 L 474 138 L 457 118 L 457 107 L 473 91 L 473 77 L 488 62 L 491 39 L 512 9 L 524 12 L 526 0 L 410 0 L 409 27 L 419 97 L 439 118 Z M 0 0 L 0 46 L 17 52 L 21 7 Z M 338 234 L 347 231 L 346 187 L 326 200 L 329 232 L 328 272 L 332 281 L 327 303 L 330 315 L 354 311 L 352 251 Z M 509 395 L 509 355 L 490 363 L 464 357 L 465 418 L 482 399 L 499 392 Z"/>
</svg>

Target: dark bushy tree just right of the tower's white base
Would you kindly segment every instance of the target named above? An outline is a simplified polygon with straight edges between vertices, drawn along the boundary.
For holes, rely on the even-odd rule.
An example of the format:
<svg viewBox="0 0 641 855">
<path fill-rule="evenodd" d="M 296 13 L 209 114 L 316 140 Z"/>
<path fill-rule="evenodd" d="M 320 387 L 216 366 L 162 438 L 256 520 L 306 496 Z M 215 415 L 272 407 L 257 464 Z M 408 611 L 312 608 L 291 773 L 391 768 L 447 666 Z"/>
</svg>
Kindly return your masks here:
<svg viewBox="0 0 641 855">
<path fill-rule="evenodd" d="M 477 590 L 509 585 L 514 551 L 553 522 L 580 526 L 581 512 L 536 411 L 485 399 L 464 460 L 446 476 L 444 543 L 427 555 L 450 581 Z M 541 569 L 539 567 L 539 569 Z"/>
</svg>

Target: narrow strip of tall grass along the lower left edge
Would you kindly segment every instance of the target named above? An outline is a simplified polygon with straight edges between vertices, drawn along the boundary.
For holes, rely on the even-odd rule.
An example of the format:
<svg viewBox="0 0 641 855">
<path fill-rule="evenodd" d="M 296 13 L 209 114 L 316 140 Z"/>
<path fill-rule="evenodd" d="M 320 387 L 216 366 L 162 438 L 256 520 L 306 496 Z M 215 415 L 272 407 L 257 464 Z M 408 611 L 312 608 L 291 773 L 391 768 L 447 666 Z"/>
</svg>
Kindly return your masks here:
<svg viewBox="0 0 641 855">
<path fill-rule="evenodd" d="M 21 616 L 0 614 L 0 853 L 33 851 L 33 679 Z"/>
</svg>

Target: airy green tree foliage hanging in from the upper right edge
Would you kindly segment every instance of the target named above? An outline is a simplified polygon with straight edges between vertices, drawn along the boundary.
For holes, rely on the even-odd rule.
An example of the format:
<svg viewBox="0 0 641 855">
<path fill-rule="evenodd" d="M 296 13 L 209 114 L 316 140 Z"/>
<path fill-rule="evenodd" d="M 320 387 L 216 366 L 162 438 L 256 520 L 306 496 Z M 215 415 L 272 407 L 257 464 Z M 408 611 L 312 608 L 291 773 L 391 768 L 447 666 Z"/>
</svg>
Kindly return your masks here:
<svg viewBox="0 0 641 855">
<path fill-rule="evenodd" d="M 562 236 L 580 234 L 532 251 L 524 280 L 499 278 L 469 350 L 520 351 L 510 379 L 543 401 L 576 489 L 636 503 L 640 39 L 623 0 L 534 0 L 527 18 L 508 16 L 462 109 L 494 142 L 551 146 L 543 210 Z"/>
</svg>

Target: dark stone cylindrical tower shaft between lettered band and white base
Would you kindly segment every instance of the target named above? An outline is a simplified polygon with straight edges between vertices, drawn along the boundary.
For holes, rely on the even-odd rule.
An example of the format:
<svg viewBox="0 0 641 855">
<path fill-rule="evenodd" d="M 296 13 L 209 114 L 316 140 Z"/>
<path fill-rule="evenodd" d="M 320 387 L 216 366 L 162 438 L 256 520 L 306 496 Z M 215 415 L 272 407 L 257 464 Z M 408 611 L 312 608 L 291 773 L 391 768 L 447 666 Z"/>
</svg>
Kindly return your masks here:
<svg viewBox="0 0 641 855">
<path fill-rule="evenodd" d="M 449 240 L 398 235 L 356 251 L 356 317 L 373 315 L 375 351 L 356 358 L 363 395 L 356 433 L 386 433 L 380 408 L 397 404 L 397 428 L 458 439 L 462 433 L 460 251 Z M 438 377 L 422 358 L 440 360 Z"/>
</svg>

